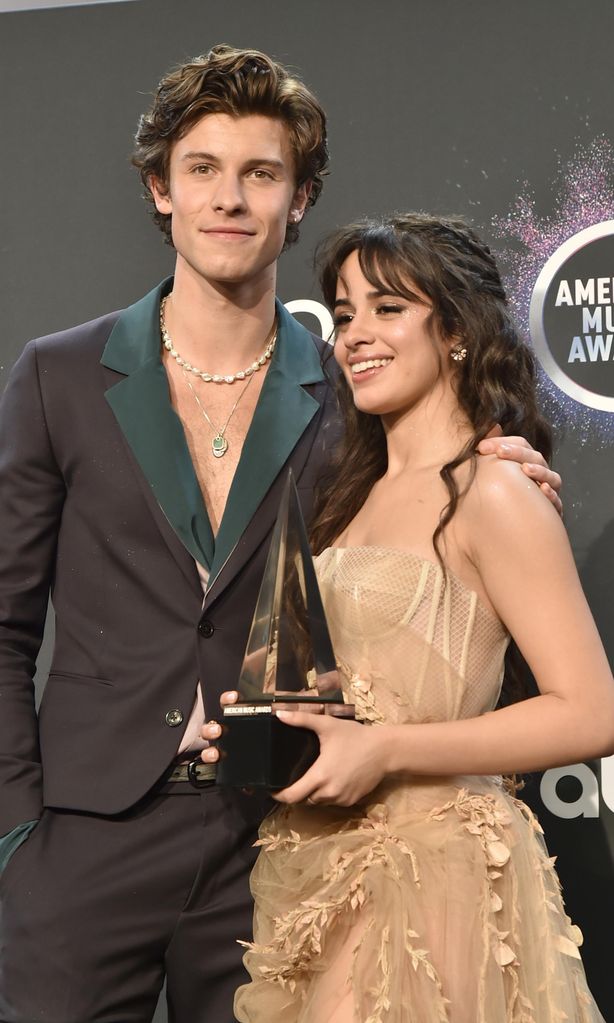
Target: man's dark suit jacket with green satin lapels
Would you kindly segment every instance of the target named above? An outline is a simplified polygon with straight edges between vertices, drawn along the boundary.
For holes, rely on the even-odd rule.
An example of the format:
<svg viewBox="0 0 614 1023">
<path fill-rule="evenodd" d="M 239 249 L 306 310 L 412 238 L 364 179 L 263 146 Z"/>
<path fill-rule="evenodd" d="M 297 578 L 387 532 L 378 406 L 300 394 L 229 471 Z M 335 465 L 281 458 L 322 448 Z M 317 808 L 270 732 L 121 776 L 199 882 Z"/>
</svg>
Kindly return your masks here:
<svg viewBox="0 0 614 1023">
<path fill-rule="evenodd" d="M 322 343 L 278 306 L 214 542 L 160 360 L 169 287 L 30 343 L 2 400 L 0 835 L 42 805 L 131 806 L 173 759 L 198 679 L 218 712 L 238 677 L 287 469 L 308 510 L 337 437 Z M 204 608 L 194 559 L 210 570 Z M 37 719 L 49 592 L 55 647 Z"/>
</svg>

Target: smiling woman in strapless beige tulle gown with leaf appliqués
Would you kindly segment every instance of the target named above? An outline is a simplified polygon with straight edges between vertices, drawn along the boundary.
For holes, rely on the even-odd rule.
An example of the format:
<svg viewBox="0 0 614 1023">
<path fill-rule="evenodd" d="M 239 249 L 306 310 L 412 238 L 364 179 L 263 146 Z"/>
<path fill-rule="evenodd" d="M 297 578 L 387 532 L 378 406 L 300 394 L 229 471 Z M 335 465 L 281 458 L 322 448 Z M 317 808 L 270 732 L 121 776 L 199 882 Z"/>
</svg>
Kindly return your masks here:
<svg viewBox="0 0 614 1023">
<path fill-rule="evenodd" d="M 283 715 L 320 756 L 261 830 L 237 1018 L 597 1023 L 539 826 L 501 781 L 614 752 L 563 526 L 518 465 L 475 455 L 496 422 L 546 450 L 531 353 L 457 220 L 346 228 L 322 286 L 348 429 L 312 542 L 370 726 Z M 510 635 L 539 694 L 500 706 Z"/>
</svg>

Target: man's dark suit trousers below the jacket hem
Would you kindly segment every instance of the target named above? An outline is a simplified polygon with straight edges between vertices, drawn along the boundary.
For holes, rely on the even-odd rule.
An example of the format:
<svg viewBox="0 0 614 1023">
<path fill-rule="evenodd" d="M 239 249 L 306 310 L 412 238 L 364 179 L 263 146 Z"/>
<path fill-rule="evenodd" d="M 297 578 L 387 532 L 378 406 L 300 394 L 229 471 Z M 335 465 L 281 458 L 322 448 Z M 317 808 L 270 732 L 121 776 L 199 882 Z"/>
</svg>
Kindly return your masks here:
<svg viewBox="0 0 614 1023">
<path fill-rule="evenodd" d="M 167 785 L 120 816 L 46 809 L 0 878 L 2 1023 L 231 1023 L 264 799 Z"/>
</svg>

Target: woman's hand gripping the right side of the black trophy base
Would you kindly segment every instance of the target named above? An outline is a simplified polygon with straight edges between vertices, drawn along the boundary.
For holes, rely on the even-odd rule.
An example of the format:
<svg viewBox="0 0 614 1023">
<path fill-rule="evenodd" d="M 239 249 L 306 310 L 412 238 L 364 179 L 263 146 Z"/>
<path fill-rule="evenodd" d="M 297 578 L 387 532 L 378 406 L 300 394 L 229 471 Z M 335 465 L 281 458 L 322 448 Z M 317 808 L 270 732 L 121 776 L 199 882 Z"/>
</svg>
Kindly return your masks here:
<svg viewBox="0 0 614 1023">
<path fill-rule="evenodd" d="M 290 727 L 315 731 L 320 744 L 320 755 L 309 770 L 294 785 L 273 793 L 280 803 L 306 800 L 352 806 L 386 774 L 388 727 L 301 711 L 278 711 L 277 717 Z"/>
</svg>

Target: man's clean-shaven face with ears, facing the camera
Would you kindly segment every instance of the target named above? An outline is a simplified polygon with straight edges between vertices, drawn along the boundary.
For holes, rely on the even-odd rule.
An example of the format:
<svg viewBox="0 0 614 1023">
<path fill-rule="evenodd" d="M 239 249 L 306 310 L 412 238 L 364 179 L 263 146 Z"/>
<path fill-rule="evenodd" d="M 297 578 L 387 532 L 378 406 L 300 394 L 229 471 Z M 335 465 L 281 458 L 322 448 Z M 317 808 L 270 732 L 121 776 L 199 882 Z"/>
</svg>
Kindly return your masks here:
<svg viewBox="0 0 614 1023">
<path fill-rule="evenodd" d="M 171 151 L 169 185 L 150 181 L 172 214 L 177 269 L 222 285 L 274 282 L 289 222 L 303 216 L 288 129 L 260 115 L 209 114 Z"/>
</svg>

